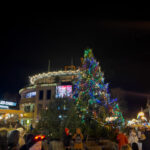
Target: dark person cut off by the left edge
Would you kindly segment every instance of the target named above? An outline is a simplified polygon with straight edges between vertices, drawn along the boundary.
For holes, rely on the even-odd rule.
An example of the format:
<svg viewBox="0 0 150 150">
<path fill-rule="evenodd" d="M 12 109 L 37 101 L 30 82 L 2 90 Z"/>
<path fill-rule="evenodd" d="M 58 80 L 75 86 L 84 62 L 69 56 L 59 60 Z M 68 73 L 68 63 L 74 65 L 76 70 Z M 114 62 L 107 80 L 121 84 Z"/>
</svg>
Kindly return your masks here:
<svg viewBox="0 0 150 150">
<path fill-rule="evenodd" d="M 8 150 L 7 130 L 0 131 L 0 150 Z"/>
</svg>

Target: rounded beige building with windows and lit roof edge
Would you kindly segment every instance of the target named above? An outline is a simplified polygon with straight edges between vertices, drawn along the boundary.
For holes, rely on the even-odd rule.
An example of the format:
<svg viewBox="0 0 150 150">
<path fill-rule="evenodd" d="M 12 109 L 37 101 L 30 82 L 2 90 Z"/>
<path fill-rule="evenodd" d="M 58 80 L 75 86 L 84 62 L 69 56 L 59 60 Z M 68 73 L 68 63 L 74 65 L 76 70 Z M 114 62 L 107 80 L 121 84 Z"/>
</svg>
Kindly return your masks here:
<svg viewBox="0 0 150 150">
<path fill-rule="evenodd" d="M 24 111 L 21 124 L 29 127 L 39 121 L 42 109 L 48 109 L 49 102 L 56 98 L 72 95 L 72 81 L 78 70 L 42 73 L 30 77 L 30 85 L 19 91 L 20 110 Z"/>
</svg>

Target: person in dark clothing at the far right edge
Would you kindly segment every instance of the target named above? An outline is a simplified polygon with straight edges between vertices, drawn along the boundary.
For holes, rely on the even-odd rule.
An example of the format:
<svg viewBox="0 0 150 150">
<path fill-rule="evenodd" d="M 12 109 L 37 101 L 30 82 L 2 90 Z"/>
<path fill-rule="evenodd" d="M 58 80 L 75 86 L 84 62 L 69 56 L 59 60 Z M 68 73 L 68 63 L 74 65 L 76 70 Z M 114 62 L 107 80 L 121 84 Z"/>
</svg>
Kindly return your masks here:
<svg viewBox="0 0 150 150">
<path fill-rule="evenodd" d="M 150 150 L 150 131 L 145 132 L 146 139 L 142 141 L 142 149 Z"/>
</svg>

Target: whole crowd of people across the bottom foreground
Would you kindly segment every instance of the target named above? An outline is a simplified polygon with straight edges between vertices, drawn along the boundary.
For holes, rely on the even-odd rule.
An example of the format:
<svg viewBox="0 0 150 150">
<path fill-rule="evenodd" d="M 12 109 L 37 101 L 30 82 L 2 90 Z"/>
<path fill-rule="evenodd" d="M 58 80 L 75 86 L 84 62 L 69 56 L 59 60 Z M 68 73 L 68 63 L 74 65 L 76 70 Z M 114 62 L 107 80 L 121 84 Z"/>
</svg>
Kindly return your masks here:
<svg viewBox="0 0 150 150">
<path fill-rule="evenodd" d="M 68 128 L 65 128 L 63 136 L 63 147 L 65 150 L 88 150 L 83 142 L 84 136 L 80 128 L 76 129 L 75 134 L 71 134 Z M 101 144 L 100 144 L 101 143 Z M 103 144 L 102 144 L 103 143 Z M 46 146 L 47 145 L 47 146 Z M 55 144 L 58 146 L 58 144 Z M 150 150 L 150 131 L 130 129 L 127 133 L 116 130 L 116 141 L 99 141 L 99 147 L 102 150 Z M 53 144 L 45 140 L 35 140 L 35 136 L 26 133 L 23 128 L 17 128 L 12 131 L 0 129 L 0 150 L 48 150 L 55 149 Z M 61 150 L 61 149 L 60 149 Z"/>
</svg>

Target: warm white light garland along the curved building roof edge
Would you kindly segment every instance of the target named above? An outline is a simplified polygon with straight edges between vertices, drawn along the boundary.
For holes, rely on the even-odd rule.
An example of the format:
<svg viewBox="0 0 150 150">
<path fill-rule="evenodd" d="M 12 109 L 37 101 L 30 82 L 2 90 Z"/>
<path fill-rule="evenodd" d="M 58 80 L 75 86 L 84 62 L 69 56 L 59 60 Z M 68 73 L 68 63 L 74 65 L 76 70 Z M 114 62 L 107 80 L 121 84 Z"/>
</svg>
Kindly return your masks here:
<svg viewBox="0 0 150 150">
<path fill-rule="evenodd" d="M 37 80 L 42 78 L 49 78 L 49 77 L 55 77 L 55 76 L 66 76 L 66 75 L 77 75 L 79 73 L 79 70 L 73 71 L 54 71 L 54 72 L 48 72 L 48 73 L 41 73 L 34 75 L 32 77 L 29 77 L 30 83 L 34 84 Z"/>
</svg>

